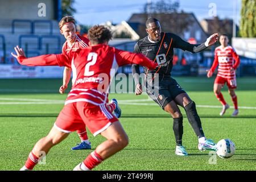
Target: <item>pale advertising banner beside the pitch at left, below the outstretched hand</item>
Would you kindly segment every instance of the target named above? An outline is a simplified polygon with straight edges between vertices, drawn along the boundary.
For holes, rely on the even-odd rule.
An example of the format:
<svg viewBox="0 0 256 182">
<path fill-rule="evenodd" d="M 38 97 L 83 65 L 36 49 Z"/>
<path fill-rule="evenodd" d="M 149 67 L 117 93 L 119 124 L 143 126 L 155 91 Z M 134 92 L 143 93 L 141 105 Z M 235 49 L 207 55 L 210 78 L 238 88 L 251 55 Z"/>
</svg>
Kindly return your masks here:
<svg viewBox="0 0 256 182">
<path fill-rule="evenodd" d="M 62 78 L 64 67 L 25 67 L 0 64 L 0 78 Z"/>
</svg>

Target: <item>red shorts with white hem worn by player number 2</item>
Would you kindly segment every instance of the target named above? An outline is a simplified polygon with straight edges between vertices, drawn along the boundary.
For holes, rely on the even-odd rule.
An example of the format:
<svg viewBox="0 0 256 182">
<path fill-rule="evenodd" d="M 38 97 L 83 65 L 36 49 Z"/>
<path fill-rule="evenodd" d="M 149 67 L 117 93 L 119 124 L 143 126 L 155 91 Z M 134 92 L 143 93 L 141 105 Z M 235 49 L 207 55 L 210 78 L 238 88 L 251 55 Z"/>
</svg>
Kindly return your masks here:
<svg viewBox="0 0 256 182">
<path fill-rule="evenodd" d="M 116 121 L 118 119 L 110 113 L 106 105 L 74 102 L 63 107 L 54 126 L 64 133 L 71 133 L 87 126 L 95 137 Z"/>
</svg>

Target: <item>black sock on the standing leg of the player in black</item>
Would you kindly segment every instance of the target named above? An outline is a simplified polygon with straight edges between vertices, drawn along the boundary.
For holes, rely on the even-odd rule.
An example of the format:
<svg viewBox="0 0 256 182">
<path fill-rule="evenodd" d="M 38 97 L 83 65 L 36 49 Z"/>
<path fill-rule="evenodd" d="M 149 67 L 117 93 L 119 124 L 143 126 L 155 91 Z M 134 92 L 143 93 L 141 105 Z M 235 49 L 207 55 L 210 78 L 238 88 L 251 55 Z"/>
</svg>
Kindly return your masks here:
<svg viewBox="0 0 256 182">
<path fill-rule="evenodd" d="M 183 117 L 174 118 L 174 135 L 177 146 L 182 146 L 182 135 L 183 135 Z"/>
</svg>

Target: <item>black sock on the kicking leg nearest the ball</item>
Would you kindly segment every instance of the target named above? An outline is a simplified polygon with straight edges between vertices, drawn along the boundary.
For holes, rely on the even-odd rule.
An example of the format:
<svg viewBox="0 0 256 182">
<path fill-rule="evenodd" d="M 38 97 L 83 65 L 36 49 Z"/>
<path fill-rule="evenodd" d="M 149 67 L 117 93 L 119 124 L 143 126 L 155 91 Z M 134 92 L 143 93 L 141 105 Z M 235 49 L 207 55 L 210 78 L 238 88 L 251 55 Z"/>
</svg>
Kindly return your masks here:
<svg viewBox="0 0 256 182">
<path fill-rule="evenodd" d="M 196 111 L 196 104 L 194 101 L 190 102 L 185 106 L 185 111 L 189 123 L 191 124 L 193 130 L 195 131 L 198 138 L 204 137 L 204 131 L 202 128 L 201 120 Z"/>
</svg>

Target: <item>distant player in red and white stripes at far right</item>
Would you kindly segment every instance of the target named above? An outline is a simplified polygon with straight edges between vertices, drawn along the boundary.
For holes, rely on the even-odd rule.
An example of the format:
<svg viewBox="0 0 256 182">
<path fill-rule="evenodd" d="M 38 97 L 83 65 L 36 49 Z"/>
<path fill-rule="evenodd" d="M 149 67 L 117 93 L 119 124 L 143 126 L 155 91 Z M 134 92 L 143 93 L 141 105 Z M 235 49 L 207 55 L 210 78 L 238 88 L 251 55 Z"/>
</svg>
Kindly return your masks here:
<svg viewBox="0 0 256 182">
<path fill-rule="evenodd" d="M 240 58 L 234 49 L 228 45 L 228 43 L 228 35 L 222 34 L 220 36 L 221 46 L 215 49 L 214 61 L 212 68 L 210 68 L 207 73 L 207 77 L 212 77 L 213 72 L 218 65 L 218 74 L 214 81 L 213 92 L 223 106 L 220 115 L 223 115 L 225 111 L 229 109 L 229 105 L 226 103 L 221 93 L 221 89 L 226 83 L 226 85 L 228 85 L 229 94 L 234 104 L 234 111 L 232 116 L 236 116 L 238 115 L 237 95 L 235 93 L 235 89 L 237 88 L 236 69 L 240 64 Z"/>
</svg>

